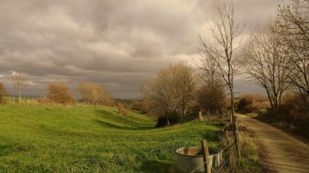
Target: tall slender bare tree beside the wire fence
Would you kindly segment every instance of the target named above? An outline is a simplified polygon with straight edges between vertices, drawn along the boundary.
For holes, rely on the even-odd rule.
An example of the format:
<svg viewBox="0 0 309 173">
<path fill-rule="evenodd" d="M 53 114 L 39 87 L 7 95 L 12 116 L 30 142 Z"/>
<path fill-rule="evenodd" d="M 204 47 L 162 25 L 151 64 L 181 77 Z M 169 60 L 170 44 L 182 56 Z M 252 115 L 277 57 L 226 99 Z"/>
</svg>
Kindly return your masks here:
<svg viewBox="0 0 309 173">
<path fill-rule="evenodd" d="M 231 111 L 234 114 L 234 77 L 236 72 L 242 66 L 240 58 L 236 57 L 236 50 L 240 46 L 240 34 L 244 25 L 236 21 L 232 1 L 220 1 L 215 6 L 216 16 L 208 23 L 208 29 L 214 42 L 199 36 L 201 47 L 199 50 L 203 53 L 201 62 L 203 64 L 213 63 L 216 66 L 216 73 L 222 77 L 222 80 L 229 88 L 231 97 Z M 204 69 L 207 70 L 207 69 Z"/>
</svg>

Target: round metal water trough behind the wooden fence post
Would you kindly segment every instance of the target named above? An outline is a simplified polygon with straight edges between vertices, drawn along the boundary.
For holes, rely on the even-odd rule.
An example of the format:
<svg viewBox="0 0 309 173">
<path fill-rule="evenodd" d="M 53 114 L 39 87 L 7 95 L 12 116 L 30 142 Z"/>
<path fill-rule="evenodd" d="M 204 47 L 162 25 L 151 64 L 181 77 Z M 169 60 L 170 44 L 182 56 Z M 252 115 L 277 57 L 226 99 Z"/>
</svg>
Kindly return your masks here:
<svg viewBox="0 0 309 173">
<path fill-rule="evenodd" d="M 209 163 L 212 168 L 222 164 L 222 150 L 219 148 L 208 147 Z M 219 153 L 220 152 L 220 153 Z M 219 154 L 218 154 L 219 153 Z M 218 155 L 217 155 L 218 154 Z M 214 155 L 216 155 L 214 157 Z M 176 150 L 177 168 L 181 172 L 204 172 L 202 148 L 199 146 L 188 146 Z"/>
</svg>

